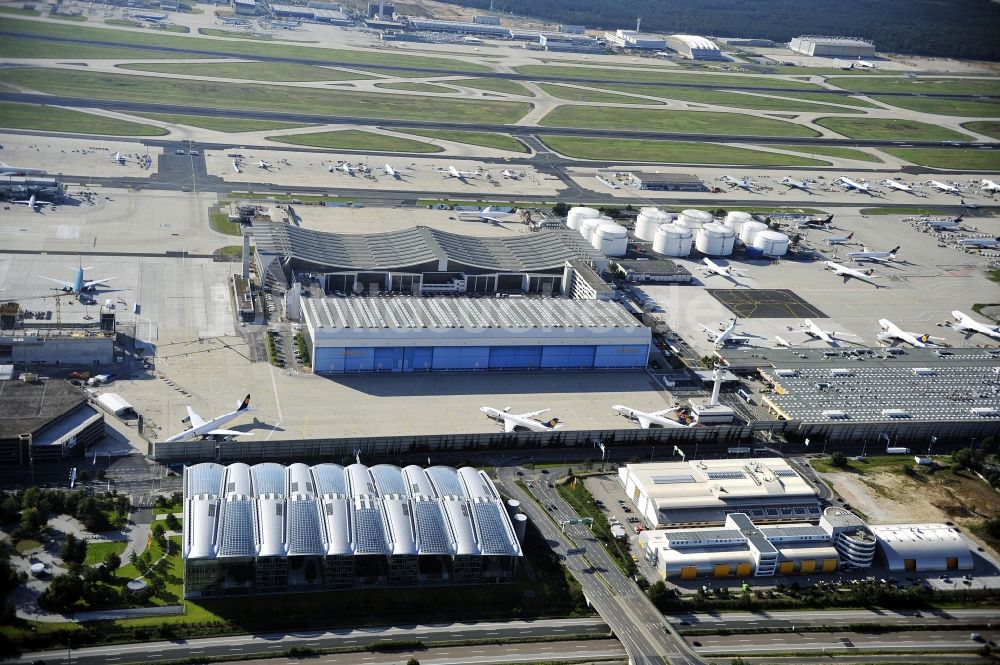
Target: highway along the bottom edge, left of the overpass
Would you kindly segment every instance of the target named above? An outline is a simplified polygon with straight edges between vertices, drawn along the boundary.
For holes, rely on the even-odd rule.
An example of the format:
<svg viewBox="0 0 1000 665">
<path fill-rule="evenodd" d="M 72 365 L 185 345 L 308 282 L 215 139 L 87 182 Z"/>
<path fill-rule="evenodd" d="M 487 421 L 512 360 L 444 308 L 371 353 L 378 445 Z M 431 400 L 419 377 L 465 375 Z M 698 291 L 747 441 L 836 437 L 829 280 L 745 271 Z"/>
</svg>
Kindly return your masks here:
<svg viewBox="0 0 1000 665">
<path fill-rule="evenodd" d="M 198 640 L 175 640 L 171 642 L 149 642 L 136 644 L 114 644 L 99 647 L 73 649 L 67 652 L 40 651 L 22 654 L 15 663 L 31 663 L 34 660 L 44 660 L 48 665 L 126 665 L 128 663 L 143 663 L 147 661 L 178 660 L 183 658 L 245 658 L 247 656 L 275 654 L 287 651 L 292 647 L 309 649 L 336 649 L 363 647 L 386 641 L 421 640 L 426 644 L 434 642 L 458 642 L 467 640 L 499 640 L 499 639 L 529 639 L 552 638 L 569 635 L 607 635 L 608 626 L 596 618 L 588 619 L 543 619 L 538 621 L 484 622 L 468 624 L 416 625 L 377 628 L 343 628 L 334 630 L 300 631 L 294 633 L 270 633 L 260 635 L 232 635 L 227 637 L 211 637 Z M 617 642 L 587 640 L 568 642 L 567 645 L 601 645 L 600 649 L 610 651 L 612 655 L 620 655 L 621 648 L 614 651 L 612 645 Z M 501 645 L 503 647 L 504 645 Z M 518 646 L 527 662 L 536 660 L 551 660 L 554 654 L 563 652 L 562 642 L 544 642 L 535 644 L 506 645 Z M 482 645 L 469 647 L 481 650 L 489 655 L 489 650 L 495 650 L 497 645 Z M 567 647 L 568 649 L 568 647 Z M 585 649 L 584 649 L 585 650 Z M 579 656 L 579 651 L 576 652 Z M 419 654 L 418 654 L 419 655 Z M 419 656 L 423 661 L 422 655 Z M 507 655 L 509 658 L 509 654 Z M 396 665 L 404 662 L 400 653 L 394 654 Z M 269 661 L 273 662 L 273 661 Z M 314 662 L 310 659 L 310 662 Z M 329 662 L 368 662 L 360 654 L 350 654 L 348 660 Z M 375 661 L 379 662 L 379 661 Z M 459 661 L 474 662 L 474 661 Z M 503 659 L 483 660 L 481 662 L 507 662 Z M 513 661 L 510 661 L 513 662 Z"/>
</svg>

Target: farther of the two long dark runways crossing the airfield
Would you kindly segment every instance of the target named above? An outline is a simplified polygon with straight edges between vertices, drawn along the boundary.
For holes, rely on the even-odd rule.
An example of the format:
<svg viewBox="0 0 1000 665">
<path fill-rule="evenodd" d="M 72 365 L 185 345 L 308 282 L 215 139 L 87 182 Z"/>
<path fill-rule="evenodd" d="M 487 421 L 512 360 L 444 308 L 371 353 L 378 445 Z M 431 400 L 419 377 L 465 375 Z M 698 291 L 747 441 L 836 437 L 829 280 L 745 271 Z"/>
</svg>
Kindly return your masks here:
<svg viewBox="0 0 1000 665">
<path fill-rule="evenodd" d="M 577 78 L 570 76 L 554 76 L 545 74 L 521 74 L 518 72 L 495 72 L 495 71 L 470 71 L 470 70 L 456 70 L 456 69 L 440 69 L 434 67 L 415 67 L 413 65 L 382 65 L 376 63 L 359 63 L 356 60 L 330 60 L 330 59 L 320 59 L 320 58 L 295 58 L 287 55 L 262 55 L 259 53 L 248 53 L 246 51 L 227 51 L 225 49 L 225 42 L 220 42 L 219 40 L 209 40 L 203 38 L 188 38 L 191 39 L 192 44 L 196 43 L 195 39 L 201 39 L 202 44 L 213 44 L 218 45 L 220 48 L 182 48 L 177 46 L 163 46 L 157 44 L 129 44 L 125 42 L 112 42 L 99 39 L 83 39 L 80 37 L 57 37 L 55 35 L 38 35 L 32 33 L 18 32 L 16 30 L 5 30 L 0 31 L 0 37 L 24 37 L 37 41 L 49 41 L 49 42 L 60 42 L 64 44 L 80 44 L 84 46 L 106 46 L 111 48 L 120 49 L 140 49 L 142 51 L 163 51 L 164 53 L 184 53 L 188 55 L 203 55 L 212 58 L 219 57 L 229 57 L 229 58 L 239 58 L 240 60 L 253 60 L 258 62 L 287 62 L 299 65 L 324 65 L 327 67 L 351 67 L 354 69 L 361 70 L 386 70 L 390 72 L 418 72 L 425 73 L 428 76 L 455 76 L 455 75 L 468 75 L 475 76 L 478 78 L 498 78 L 507 79 L 509 81 L 545 81 L 553 83 L 576 83 L 576 84 L 621 84 L 621 83 L 635 83 L 637 85 L 656 85 L 663 87 L 672 88 L 700 88 L 705 90 L 744 90 L 748 92 L 777 92 L 777 93 L 789 93 L 789 92 L 810 92 L 818 94 L 827 94 L 833 96 L 848 96 L 857 95 L 864 93 L 857 93 L 850 90 L 831 90 L 829 88 L 787 88 L 787 87 L 747 87 L 739 85 L 719 85 L 718 83 L 691 83 L 683 81 L 671 81 L 669 79 L 663 81 L 623 81 L 621 79 L 609 79 L 609 78 Z M 296 48 L 296 47 L 292 47 Z M 457 62 L 457 61 L 456 61 Z M 657 72 L 658 73 L 658 72 Z M 669 76 L 669 71 L 664 71 L 665 76 Z M 711 80 L 711 75 L 705 77 L 706 80 Z M 882 97 L 912 97 L 916 93 L 912 92 L 876 92 L 871 94 L 877 94 Z M 982 95 L 956 95 L 947 93 L 920 93 L 921 97 L 937 97 L 944 99 L 983 99 Z"/>
</svg>

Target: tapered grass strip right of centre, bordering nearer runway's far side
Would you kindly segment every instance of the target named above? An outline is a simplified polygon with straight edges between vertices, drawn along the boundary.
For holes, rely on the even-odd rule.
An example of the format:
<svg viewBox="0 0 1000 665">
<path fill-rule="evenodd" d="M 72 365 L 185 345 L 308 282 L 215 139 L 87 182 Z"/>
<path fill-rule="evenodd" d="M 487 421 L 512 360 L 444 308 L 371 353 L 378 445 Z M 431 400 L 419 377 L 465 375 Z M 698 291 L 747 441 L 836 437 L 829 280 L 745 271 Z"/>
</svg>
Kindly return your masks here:
<svg viewBox="0 0 1000 665">
<path fill-rule="evenodd" d="M 808 127 L 740 113 L 558 106 L 542 118 L 544 127 L 636 129 L 660 132 L 750 136 L 816 136 Z"/>
</svg>

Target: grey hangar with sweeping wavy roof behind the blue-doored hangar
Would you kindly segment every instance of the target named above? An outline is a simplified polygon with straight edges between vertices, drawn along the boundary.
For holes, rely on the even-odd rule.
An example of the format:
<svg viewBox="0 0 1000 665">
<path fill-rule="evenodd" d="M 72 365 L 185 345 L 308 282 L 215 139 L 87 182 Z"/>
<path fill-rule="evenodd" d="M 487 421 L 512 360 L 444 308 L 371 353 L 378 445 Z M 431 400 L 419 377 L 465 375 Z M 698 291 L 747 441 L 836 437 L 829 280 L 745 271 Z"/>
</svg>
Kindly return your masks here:
<svg viewBox="0 0 1000 665">
<path fill-rule="evenodd" d="M 566 261 L 607 266 L 604 254 L 566 229 L 475 237 L 418 226 L 346 235 L 265 221 L 254 222 L 253 236 L 258 274 L 281 289 L 309 273 L 343 293 L 552 294 Z"/>
</svg>

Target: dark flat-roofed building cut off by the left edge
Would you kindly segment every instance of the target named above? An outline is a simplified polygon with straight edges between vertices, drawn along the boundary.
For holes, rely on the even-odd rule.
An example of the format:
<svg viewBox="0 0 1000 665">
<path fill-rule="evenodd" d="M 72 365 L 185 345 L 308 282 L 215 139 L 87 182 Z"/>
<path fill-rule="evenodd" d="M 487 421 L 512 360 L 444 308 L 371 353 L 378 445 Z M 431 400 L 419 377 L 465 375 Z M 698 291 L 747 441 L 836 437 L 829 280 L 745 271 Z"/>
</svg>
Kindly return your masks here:
<svg viewBox="0 0 1000 665">
<path fill-rule="evenodd" d="M 104 416 L 68 381 L 0 381 L 0 464 L 29 466 L 83 455 L 104 439 Z"/>
</svg>

